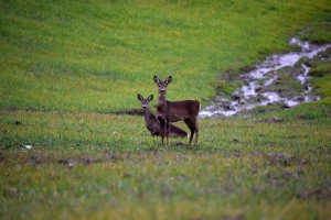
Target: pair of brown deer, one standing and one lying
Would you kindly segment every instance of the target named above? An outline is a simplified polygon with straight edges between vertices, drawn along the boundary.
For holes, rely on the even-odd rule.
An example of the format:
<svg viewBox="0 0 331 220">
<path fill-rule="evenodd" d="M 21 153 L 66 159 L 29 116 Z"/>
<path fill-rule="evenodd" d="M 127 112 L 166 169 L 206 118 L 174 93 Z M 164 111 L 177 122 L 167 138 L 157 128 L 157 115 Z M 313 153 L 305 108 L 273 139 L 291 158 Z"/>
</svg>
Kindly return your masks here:
<svg viewBox="0 0 331 220">
<path fill-rule="evenodd" d="M 172 77 L 169 76 L 164 81 L 161 81 L 157 76 L 154 76 L 153 80 L 159 86 L 157 116 L 153 116 L 149 110 L 149 102 L 153 99 L 153 95 L 143 99 L 143 97 L 138 94 L 138 99 L 141 101 L 145 114 L 146 128 L 150 131 L 151 135 L 161 136 L 162 145 L 164 144 L 163 140 L 166 136 L 168 145 L 169 136 L 178 138 L 188 135 L 184 130 L 171 124 L 171 122 L 184 121 L 191 131 L 189 145 L 192 143 L 194 133 L 195 145 L 197 145 L 197 114 L 200 111 L 200 102 L 196 100 L 167 101 L 167 87 L 172 81 Z"/>
</svg>

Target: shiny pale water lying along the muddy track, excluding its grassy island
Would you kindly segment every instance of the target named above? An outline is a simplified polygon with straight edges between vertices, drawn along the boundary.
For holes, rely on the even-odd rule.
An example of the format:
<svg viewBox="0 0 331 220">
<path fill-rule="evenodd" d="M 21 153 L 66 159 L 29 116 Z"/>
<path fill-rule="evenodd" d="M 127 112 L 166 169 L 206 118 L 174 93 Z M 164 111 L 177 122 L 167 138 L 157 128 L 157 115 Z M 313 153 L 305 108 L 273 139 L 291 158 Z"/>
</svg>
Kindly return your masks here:
<svg viewBox="0 0 331 220">
<path fill-rule="evenodd" d="M 291 52 L 282 55 L 273 55 L 267 57 L 260 65 L 257 65 L 254 70 L 242 74 L 238 80 L 244 81 L 244 86 L 237 89 L 232 95 L 232 100 L 216 97 L 211 106 L 200 111 L 200 118 L 209 118 L 217 114 L 231 117 L 243 110 L 249 110 L 257 106 L 266 106 L 274 102 L 281 103 L 286 108 L 297 106 L 302 102 L 316 101 L 320 97 L 310 95 L 311 85 L 308 76 L 309 67 L 302 64 L 290 75 L 301 84 L 303 88 L 300 94 L 292 96 L 284 96 L 281 89 L 268 90 L 267 88 L 277 85 L 279 80 L 279 70 L 284 67 L 293 67 L 297 62 L 302 58 L 312 58 L 319 52 L 325 51 L 331 45 L 317 46 L 308 42 L 301 42 L 298 38 L 291 38 L 290 44 L 296 44 L 301 47 L 301 52 Z M 280 82 L 279 82 L 280 84 Z"/>
</svg>

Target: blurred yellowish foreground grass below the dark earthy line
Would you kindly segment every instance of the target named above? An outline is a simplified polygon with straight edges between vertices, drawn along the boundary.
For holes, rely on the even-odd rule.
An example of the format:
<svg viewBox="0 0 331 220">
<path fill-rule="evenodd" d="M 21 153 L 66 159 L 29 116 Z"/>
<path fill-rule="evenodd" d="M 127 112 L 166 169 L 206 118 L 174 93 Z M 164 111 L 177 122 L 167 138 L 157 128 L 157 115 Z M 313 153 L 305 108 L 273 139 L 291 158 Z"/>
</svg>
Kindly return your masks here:
<svg viewBox="0 0 331 220">
<path fill-rule="evenodd" d="M 90 163 L 84 156 L 92 155 L 66 155 L 71 166 L 60 163 L 61 153 L 42 155 L 4 154 L 2 164 L 10 167 L 1 169 L 10 177 L 1 183 L 4 219 L 327 219 L 330 215 L 329 160 L 319 151 L 305 157 L 94 154 L 102 161 Z"/>
</svg>

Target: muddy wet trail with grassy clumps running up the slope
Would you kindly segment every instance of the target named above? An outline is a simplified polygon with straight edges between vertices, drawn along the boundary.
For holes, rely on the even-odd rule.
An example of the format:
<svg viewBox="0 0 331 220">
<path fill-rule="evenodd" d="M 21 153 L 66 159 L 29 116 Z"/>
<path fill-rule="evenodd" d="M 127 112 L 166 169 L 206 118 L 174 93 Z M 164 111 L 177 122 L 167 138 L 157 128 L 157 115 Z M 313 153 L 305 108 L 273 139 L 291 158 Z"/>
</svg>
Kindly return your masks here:
<svg viewBox="0 0 331 220">
<path fill-rule="evenodd" d="M 244 86 L 229 99 L 217 96 L 201 110 L 200 118 L 246 116 L 255 112 L 256 107 L 287 109 L 319 100 L 320 96 L 312 91 L 309 73 L 313 62 L 331 63 L 331 44 L 318 46 L 298 38 L 289 43 L 301 47 L 300 52 L 269 56 L 252 72 L 239 75 L 236 80 Z"/>
</svg>

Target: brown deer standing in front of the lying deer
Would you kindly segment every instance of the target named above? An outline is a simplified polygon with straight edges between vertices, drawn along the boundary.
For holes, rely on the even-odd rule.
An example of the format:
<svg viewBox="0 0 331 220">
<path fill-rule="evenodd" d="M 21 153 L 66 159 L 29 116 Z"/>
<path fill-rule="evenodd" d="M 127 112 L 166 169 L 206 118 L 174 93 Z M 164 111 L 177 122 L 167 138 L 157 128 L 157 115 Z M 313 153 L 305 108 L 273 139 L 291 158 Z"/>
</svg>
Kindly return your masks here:
<svg viewBox="0 0 331 220">
<path fill-rule="evenodd" d="M 199 125 L 197 114 L 200 111 L 200 102 L 197 100 L 184 100 L 184 101 L 167 101 L 166 94 L 167 87 L 172 81 L 172 77 L 169 76 L 164 81 L 161 81 L 157 76 L 153 78 L 154 82 L 159 86 L 159 100 L 157 105 L 157 119 L 163 127 L 163 133 L 167 138 L 167 145 L 169 139 L 169 131 L 171 122 L 184 121 L 189 127 L 191 134 L 189 145 L 193 140 L 195 133 L 195 145 L 197 145 L 199 139 Z M 163 138 L 162 138 L 163 144 Z"/>
</svg>

